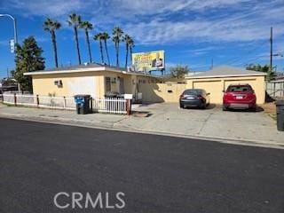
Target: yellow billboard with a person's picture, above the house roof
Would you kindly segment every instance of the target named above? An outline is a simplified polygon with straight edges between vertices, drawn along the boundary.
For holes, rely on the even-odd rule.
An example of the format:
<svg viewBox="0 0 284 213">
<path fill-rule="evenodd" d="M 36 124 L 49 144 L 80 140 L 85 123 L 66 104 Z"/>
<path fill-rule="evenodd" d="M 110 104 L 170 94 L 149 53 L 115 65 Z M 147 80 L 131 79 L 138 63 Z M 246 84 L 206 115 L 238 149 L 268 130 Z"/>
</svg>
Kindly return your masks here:
<svg viewBox="0 0 284 213">
<path fill-rule="evenodd" d="M 133 53 L 132 66 L 139 72 L 162 70 L 165 68 L 165 51 Z"/>
</svg>

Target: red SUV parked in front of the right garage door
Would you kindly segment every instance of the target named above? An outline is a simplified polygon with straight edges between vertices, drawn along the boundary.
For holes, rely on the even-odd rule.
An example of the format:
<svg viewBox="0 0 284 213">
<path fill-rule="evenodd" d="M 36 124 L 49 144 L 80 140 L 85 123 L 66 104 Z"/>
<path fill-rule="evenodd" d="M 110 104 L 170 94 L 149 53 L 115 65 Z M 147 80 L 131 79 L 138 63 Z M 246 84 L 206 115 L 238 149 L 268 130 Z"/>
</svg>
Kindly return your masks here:
<svg viewBox="0 0 284 213">
<path fill-rule="evenodd" d="M 256 93 L 249 84 L 231 84 L 224 91 L 223 110 L 247 108 L 256 111 Z"/>
</svg>

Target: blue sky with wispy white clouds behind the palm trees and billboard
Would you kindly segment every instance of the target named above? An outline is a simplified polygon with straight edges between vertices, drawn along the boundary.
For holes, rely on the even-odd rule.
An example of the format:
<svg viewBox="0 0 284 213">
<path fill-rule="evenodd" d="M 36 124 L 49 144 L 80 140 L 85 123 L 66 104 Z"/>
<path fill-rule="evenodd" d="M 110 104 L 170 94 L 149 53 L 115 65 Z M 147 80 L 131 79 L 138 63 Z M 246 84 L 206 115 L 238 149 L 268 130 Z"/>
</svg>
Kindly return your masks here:
<svg viewBox="0 0 284 213">
<path fill-rule="evenodd" d="M 67 15 L 75 12 L 89 20 L 99 31 L 119 26 L 133 36 L 134 51 L 165 50 L 166 67 L 188 65 L 192 70 L 214 66 L 245 67 L 249 63 L 269 63 L 270 28 L 273 27 L 273 53 L 284 53 L 284 1 L 256 0 L 6 0 L 0 13 L 10 13 L 18 21 L 19 40 L 35 36 L 43 48 L 46 67 L 54 67 L 51 37 L 43 31 L 46 17 L 59 20 L 57 31 L 59 65 L 77 64 L 74 32 L 67 26 Z M 14 67 L 9 50 L 12 20 L 0 17 L 0 77 Z M 83 31 L 79 32 L 82 59 L 88 61 Z M 114 64 L 114 45 L 109 40 Z M 121 65 L 125 46 L 121 45 Z M 93 58 L 100 62 L 99 43 L 91 39 Z M 284 58 L 274 57 L 273 64 L 283 72 Z"/>
</svg>

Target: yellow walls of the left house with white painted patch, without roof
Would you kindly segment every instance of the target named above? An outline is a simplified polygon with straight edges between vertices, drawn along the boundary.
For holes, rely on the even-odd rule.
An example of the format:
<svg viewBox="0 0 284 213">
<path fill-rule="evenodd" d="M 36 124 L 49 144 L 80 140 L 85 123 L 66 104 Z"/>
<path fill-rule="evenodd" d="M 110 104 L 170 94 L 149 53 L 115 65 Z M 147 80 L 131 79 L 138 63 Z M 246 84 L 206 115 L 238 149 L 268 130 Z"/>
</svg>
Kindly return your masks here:
<svg viewBox="0 0 284 213">
<path fill-rule="evenodd" d="M 158 82 L 153 76 L 129 75 L 111 71 L 33 75 L 33 91 L 34 94 L 43 96 L 71 97 L 75 94 L 90 94 L 92 97 L 104 97 L 106 77 L 112 79 L 111 91 L 130 93 L 134 96 L 138 91 L 138 83 Z M 62 86 L 54 84 L 59 80 L 62 81 Z M 122 83 L 122 87 L 120 87 L 120 83 Z M 121 88 L 123 91 L 120 91 Z"/>
</svg>

